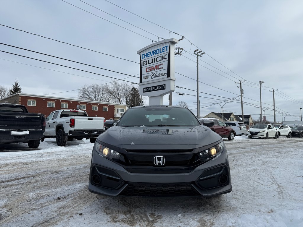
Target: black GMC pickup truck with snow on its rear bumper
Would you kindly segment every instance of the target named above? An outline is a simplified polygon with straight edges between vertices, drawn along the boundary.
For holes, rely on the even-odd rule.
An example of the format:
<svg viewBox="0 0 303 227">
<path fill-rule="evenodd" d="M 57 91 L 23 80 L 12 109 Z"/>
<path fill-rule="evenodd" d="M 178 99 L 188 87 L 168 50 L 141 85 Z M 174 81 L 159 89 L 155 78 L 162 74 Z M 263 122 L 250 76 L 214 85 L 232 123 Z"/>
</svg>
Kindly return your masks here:
<svg viewBox="0 0 303 227">
<path fill-rule="evenodd" d="M 27 143 L 37 148 L 45 131 L 42 113 L 28 113 L 25 106 L 0 103 L 0 143 Z"/>
</svg>

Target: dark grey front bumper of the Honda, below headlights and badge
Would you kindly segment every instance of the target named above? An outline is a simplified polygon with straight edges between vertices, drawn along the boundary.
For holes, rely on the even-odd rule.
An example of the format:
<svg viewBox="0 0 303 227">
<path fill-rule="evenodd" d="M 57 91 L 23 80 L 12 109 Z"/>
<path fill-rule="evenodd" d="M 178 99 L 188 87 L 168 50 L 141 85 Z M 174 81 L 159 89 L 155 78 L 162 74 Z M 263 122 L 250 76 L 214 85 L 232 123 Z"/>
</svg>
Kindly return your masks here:
<svg viewBox="0 0 303 227">
<path fill-rule="evenodd" d="M 180 166 L 182 169 L 183 167 Z M 107 196 L 214 196 L 231 192 L 224 149 L 189 173 L 131 173 L 93 150 L 88 190 Z"/>
</svg>

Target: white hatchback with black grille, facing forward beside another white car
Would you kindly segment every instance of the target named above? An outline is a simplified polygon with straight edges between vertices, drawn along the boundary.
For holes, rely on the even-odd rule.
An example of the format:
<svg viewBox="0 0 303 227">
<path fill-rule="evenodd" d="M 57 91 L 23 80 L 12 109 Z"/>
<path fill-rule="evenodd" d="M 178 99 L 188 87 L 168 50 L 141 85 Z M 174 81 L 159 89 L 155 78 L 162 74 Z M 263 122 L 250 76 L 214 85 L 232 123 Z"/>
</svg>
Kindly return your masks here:
<svg viewBox="0 0 303 227">
<path fill-rule="evenodd" d="M 272 124 L 255 124 L 253 127 L 247 130 L 247 136 L 249 139 L 251 137 L 259 138 L 278 138 L 278 129 L 275 128 Z"/>
</svg>

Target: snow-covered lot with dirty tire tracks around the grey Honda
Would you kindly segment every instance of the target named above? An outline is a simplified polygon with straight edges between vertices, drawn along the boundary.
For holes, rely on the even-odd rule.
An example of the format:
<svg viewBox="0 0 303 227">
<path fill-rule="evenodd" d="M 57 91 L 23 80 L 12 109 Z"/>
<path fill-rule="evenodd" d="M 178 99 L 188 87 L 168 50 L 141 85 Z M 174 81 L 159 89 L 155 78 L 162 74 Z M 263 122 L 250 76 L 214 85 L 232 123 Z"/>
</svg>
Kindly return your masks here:
<svg viewBox="0 0 303 227">
<path fill-rule="evenodd" d="M 224 141 L 233 190 L 210 198 L 92 194 L 89 140 L 0 144 L 0 226 L 303 226 L 303 140 Z"/>
</svg>

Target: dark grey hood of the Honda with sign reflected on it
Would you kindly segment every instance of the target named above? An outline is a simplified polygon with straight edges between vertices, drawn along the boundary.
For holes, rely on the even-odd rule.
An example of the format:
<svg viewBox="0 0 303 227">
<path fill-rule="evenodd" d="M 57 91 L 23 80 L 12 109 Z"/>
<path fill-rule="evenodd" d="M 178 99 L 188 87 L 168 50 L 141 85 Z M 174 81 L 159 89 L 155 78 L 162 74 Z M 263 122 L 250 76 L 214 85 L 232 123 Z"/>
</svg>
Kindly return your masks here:
<svg viewBox="0 0 303 227">
<path fill-rule="evenodd" d="M 208 127 L 200 125 L 194 127 L 113 126 L 99 135 L 98 140 L 113 146 L 125 145 L 123 147 L 129 149 L 135 148 L 135 145 L 141 145 L 141 147 L 145 145 L 145 149 L 148 149 L 146 145 L 159 145 L 163 149 L 174 145 L 185 149 L 197 145 L 206 146 L 222 139 Z"/>
</svg>

